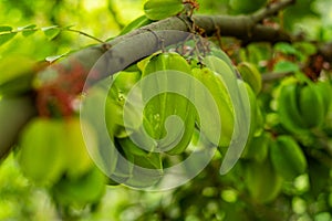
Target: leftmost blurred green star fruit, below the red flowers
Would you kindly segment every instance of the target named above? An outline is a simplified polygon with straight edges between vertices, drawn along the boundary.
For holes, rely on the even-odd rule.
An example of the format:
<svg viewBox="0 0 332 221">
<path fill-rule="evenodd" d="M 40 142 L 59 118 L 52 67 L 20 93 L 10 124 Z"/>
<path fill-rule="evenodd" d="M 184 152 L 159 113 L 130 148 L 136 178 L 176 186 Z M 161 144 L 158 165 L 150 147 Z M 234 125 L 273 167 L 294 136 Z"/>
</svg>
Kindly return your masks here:
<svg viewBox="0 0 332 221">
<path fill-rule="evenodd" d="M 60 120 L 32 120 L 20 139 L 19 164 L 23 175 L 41 185 L 58 181 L 66 166 L 64 139 Z"/>
</svg>

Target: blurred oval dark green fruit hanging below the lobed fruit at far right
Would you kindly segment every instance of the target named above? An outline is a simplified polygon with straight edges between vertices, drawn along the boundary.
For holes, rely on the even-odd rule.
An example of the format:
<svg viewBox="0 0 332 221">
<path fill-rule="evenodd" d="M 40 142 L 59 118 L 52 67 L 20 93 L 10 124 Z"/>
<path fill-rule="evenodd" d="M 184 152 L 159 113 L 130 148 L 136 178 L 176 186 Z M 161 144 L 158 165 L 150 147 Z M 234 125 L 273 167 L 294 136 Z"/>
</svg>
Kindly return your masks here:
<svg viewBox="0 0 332 221">
<path fill-rule="evenodd" d="M 291 181 L 307 169 L 307 159 L 298 143 L 290 136 L 277 137 L 270 146 L 270 158 L 276 171 Z"/>
</svg>

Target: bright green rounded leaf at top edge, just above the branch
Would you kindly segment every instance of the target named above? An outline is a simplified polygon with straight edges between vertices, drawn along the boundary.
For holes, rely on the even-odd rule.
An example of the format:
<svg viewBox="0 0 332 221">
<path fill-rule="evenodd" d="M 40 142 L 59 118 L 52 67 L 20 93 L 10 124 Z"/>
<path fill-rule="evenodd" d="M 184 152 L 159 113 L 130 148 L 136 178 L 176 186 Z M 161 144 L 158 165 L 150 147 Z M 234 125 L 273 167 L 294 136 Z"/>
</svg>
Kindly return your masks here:
<svg viewBox="0 0 332 221">
<path fill-rule="evenodd" d="M 183 9 L 181 0 L 148 0 L 144 4 L 145 15 L 151 20 L 162 20 L 176 15 Z"/>
</svg>

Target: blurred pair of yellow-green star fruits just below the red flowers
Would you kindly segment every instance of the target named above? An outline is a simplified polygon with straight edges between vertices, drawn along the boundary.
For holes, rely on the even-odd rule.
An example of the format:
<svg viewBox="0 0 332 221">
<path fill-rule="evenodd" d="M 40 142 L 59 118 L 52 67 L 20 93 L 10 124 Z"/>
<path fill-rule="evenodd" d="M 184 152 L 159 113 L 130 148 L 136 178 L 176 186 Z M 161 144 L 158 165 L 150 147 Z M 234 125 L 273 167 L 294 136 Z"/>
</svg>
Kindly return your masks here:
<svg viewBox="0 0 332 221">
<path fill-rule="evenodd" d="M 52 185 L 63 175 L 76 178 L 94 164 L 85 146 L 79 118 L 35 118 L 20 138 L 19 164 L 23 173 L 41 185 Z M 90 134 L 90 148 L 97 148 Z"/>
</svg>

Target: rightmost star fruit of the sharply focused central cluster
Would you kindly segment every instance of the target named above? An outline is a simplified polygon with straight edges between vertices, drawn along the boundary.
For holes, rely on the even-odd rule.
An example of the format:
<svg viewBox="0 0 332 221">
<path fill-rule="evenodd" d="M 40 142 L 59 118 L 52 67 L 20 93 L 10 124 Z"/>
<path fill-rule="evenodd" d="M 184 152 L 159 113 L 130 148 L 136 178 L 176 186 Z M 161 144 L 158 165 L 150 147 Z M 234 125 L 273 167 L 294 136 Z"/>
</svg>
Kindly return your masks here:
<svg viewBox="0 0 332 221">
<path fill-rule="evenodd" d="M 227 96 L 225 97 L 230 97 L 228 106 L 230 106 L 234 113 L 234 123 L 228 125 L 230 128 L 232 127 L 232 134 L 228 137 L 228 143 L 226 143 L 225 146 L 224 144 L 218 146 L 219 151 L 225 156 L 220 168 L 220 172 L 225 173 L 235 165 L 236 161 L 234 159 L 236 157 L 240 158 L 246 143 L 248 143 L 256 133 L 258 107 L 256 94 L 252 92 L 251 87 L 246 82 L 237 78 L 236 71 L 230 61 L 228 61 L 228 59 L 222 59 L 222 53 L 218 56 L 208 55 L 205 57 L 204 62 L 208 69 L 220 76 L 220 80 L 226 87 L 225 91 Z M 235 145 L 236 143 L 238 143 L 237 148 L 228 148 L 230 147 L 229 145 Z"/>
</svg>

